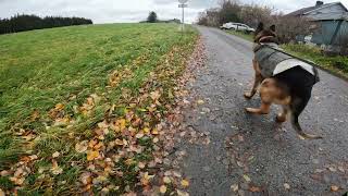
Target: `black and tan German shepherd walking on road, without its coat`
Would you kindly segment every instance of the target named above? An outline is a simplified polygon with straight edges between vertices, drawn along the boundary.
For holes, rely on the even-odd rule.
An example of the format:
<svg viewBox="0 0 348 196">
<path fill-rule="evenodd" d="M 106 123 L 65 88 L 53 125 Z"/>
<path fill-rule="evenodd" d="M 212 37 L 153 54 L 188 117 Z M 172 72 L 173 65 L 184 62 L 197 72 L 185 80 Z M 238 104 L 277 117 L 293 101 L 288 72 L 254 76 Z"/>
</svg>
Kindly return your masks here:
<svg viewBox="0 0 348 196">
<path fill-rule="evenodd" d="M 275 25 L 264 28 L 263 23 L 260 23 L 256 29 L 254 53 L 257 48 L 264 44 L 272 44 L 273 46 L 278 45 Z M 276 75 L 265 77 L 261 74 L 260 62 L 256 57 L 257 54 L 252 61 L 254 69 L 253 87 L 250 93 L 246 93 L 244 96 L 247 99 L 251 99 L 260 86 L 259 93 L 261 97 L 261 106 L 260 108 L 246 108 L 246 111 L 254 114 L 268 114 L 272 103 L 281 105 L 283 107 L 283 111 L 277 114 L 277 122 L 285 122 L 289 115 L 293 127 L 301 138 L 322 138 L 321 136 L 304 133 L 298 122 L 299 115 L 311 98 L 313 85 L 319 82 L 318 71 L 315 68 L 312 69 L 316 75 L 311 74 L 301 66 L 294 66 Z"/>
</svg>

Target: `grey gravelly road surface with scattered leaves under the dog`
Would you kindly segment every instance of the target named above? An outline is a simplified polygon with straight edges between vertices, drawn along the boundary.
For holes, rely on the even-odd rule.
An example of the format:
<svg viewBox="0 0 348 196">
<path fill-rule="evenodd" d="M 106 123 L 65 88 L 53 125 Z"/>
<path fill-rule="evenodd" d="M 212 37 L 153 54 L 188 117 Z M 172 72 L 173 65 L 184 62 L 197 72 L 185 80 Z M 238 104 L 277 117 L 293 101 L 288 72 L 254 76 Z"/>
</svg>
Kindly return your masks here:
<svg viewBox="0 0 348 196">
<path fill-rule="evenodd" d="M 263 117 L 245 112 L 245 107 L 260 103 L 258 96 L 243 97 L 252 83 L 252 44 L 215 28 L 198 29 L 208 60 L 189 88 L 195 95 L 191 101 L 204 103 L 187 109 L 185 123 L 210 143 L 178 145 L 187 154 L 183 170 L 190 180 L 190 195 L 348 192 L 348 84 L 320 71 L 321 82 L 300 123 L 324 139 L 301 140 L 288 122 L 274 122 L 278 107 Z"/>
</svg>

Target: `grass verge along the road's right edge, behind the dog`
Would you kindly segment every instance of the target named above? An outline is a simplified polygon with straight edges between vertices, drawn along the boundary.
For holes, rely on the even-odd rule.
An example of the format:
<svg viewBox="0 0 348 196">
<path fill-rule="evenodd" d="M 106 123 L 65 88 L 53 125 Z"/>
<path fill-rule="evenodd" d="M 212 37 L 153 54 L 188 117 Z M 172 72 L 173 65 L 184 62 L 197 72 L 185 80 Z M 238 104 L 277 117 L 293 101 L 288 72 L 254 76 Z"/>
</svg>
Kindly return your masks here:
<svg viewBox="0 0 348 196">
<path fill-rule="evenodd" d="M 227 30 L 226 30 L 227 32 Z M 240 32 L 228 30 L 227 33 L 252 41 L 252 35 L 246 35 Z M 307 45 L 283 45 L 283 49 L 287 52 L 311 60 L 321 68 L 328 70 L 335 74 L 338 74 L 345 78 L 348 78 L 348 58 L 347 57 L 327 57 L 324 56 L 319 48 L 307 46 Z"/>
</svg>

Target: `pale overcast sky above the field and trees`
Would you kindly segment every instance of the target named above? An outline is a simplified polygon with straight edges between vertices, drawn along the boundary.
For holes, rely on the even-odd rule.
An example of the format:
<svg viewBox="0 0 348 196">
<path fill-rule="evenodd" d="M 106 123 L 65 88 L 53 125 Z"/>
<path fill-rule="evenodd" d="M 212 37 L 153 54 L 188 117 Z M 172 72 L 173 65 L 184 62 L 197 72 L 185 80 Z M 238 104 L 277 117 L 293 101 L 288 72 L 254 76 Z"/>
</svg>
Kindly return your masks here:
<svg viewBox="0 0 348 196">
<path fill-rule="evenodd" d="M 197 14 L 207 8 L 216 7 L 219 0 L 189 0 L 186 9 L 187 22 L 194 22 Z M 327 0 L 333 2 L 337 0 Z M 241 3 L 269 5 L 288 13 L 315 4 L 315 0 L 239 0 Z M 341 1 L 346 7 L 348 0 Z M 16 13 L 61 16 L 82 16 L 94 23 L 139 22 L 149 11 L 156 11 L 161 20 L 179 19 L 177 0 L 0 0 L 0 17 Z"/>
</svg>

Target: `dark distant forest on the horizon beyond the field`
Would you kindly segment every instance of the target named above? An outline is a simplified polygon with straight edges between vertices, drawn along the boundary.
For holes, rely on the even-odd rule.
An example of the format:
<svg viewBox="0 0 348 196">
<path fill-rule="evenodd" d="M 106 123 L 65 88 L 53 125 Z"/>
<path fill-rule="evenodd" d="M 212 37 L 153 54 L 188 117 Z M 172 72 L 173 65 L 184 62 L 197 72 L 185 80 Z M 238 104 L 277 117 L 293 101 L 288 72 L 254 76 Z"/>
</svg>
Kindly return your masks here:
<svg viewBox="0 0 348 196">
<path fill-rule="evenodd" d="M 92 24 L 92 21 L 84 17 L 46 16 L 42 19 L 37 15 L 17 14 L 11 19 L 0 19 L 0 34 L 83 24 Z"/>
</svg>

